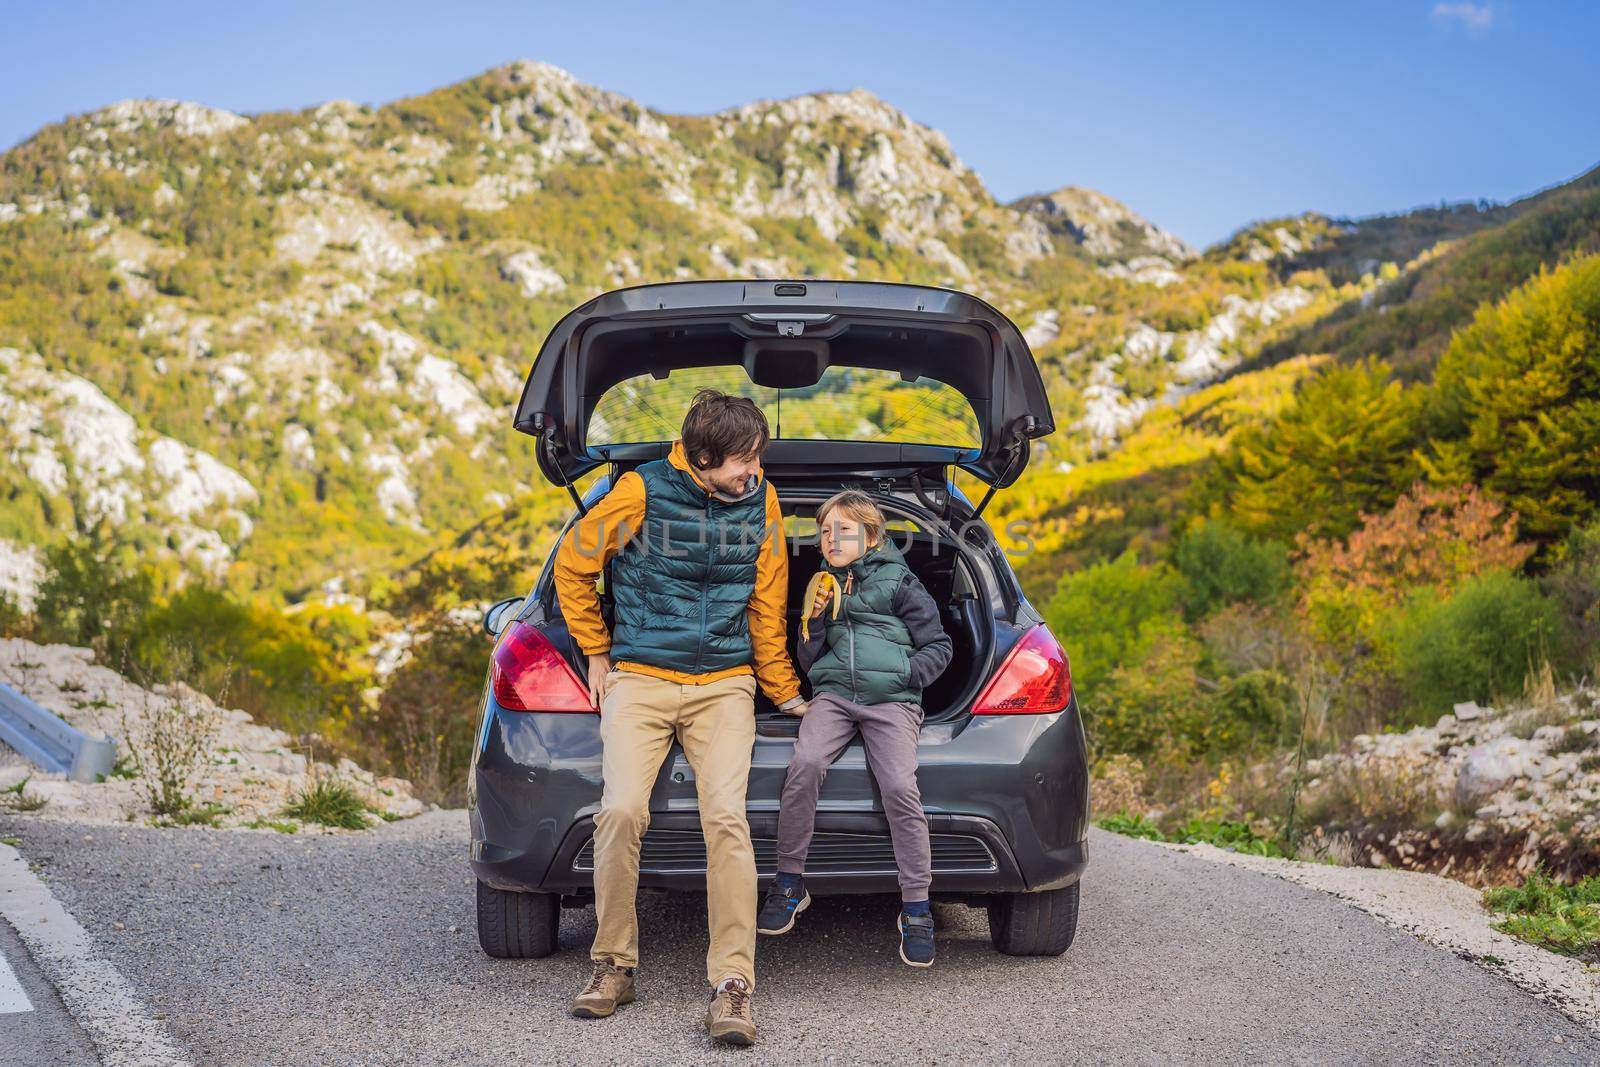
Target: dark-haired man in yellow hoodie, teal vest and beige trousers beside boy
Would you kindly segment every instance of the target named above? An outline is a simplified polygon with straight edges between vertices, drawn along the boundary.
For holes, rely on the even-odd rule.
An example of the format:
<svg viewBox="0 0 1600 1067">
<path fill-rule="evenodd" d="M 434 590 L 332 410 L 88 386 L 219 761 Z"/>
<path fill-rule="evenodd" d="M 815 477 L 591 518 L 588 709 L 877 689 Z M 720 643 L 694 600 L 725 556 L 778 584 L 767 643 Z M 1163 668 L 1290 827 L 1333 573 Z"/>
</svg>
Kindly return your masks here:
<svg viewBox="0 0 1600 1067">
<path fill-rule="evenodd" d="M 789 558 L 778 491 L 762 477 L 766 418 L 704 389 L 667 459 L 640 464 L 574 526 L 555 555 L 566 629 L 589 657 L 605 779 L 595 816 L 594 976 L 573 1014 L 598 1019 L 634 1000 L 638 841 L 672 741 L 694 769 L 706 835 L 706 912 L 720 1041 L 755 1041 L 755 853 L 744 811 L 757 681 L 802 705 L 786 651 Z M 635 536 L 637 533 L 637 536 Z M 595 579 L 611 563 L 614 632 Z"/>
</svg>

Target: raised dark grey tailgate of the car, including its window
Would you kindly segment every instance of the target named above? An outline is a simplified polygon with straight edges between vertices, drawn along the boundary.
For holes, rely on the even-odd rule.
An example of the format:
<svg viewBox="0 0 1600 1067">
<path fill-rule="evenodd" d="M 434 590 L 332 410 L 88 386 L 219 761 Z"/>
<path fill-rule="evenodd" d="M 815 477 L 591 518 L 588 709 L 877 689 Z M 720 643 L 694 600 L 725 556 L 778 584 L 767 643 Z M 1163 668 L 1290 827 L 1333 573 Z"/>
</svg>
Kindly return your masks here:
<svg viewBox="0 0 1600 1067">
<path fill-rule="evenodd" d="M 1016 482 L 1054 430 L 1027 342 L 984 301 L 882 282 L 677 282 L 605 293 L 546 338 L 517 405 L 568 486 L 666 454 L 698 389 L 766 414 L 770 472 L 960 467 Z M 574 493 L 576 498 L 576 493 Z"/>
</svg>

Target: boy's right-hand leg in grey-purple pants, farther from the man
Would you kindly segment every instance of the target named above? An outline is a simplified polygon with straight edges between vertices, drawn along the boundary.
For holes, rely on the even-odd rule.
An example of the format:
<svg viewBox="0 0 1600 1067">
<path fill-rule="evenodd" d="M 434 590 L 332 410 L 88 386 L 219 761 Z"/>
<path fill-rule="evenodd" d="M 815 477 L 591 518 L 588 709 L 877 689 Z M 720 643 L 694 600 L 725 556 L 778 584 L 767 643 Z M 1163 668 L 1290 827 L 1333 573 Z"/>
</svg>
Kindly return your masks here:
<svg viewBox="0 0 1600 1067">
<path fill-rule="evenodd" d="M 898 701 L 858 709 L 861 739 L 867 747 L 867 768 L 883 797 L 890 821 L 894 865 L 899 869 L 901 901 L 928 899 L 933 885 L 933 853 L 928 846 L 928 817 L 917 789 L 917 736 L 922 709 Z"/>
</svg>

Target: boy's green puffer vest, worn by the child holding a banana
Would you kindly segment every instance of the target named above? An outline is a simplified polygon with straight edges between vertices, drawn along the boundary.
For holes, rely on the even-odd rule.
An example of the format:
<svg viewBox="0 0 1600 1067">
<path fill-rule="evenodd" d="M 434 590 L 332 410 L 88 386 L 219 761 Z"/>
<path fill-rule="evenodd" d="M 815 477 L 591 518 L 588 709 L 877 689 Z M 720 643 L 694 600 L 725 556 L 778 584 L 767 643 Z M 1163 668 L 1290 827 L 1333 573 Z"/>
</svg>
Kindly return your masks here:
<svg viewBox="0 0 1600 1067">
<path fill-rule="evenodd" d="M 811 691 L 856 704 L 922 702 L 922 689 L 910 685 L 910 630 L 893 609 L 894 593 L 910 574 L 899 549 L 885 537 L 850 566 L 827 569 L 840 589 L 850 576 L 851 590 L 837 619 L 832 606 L 822 614 L 827 648 L 808 672 Z"/>
</svg>

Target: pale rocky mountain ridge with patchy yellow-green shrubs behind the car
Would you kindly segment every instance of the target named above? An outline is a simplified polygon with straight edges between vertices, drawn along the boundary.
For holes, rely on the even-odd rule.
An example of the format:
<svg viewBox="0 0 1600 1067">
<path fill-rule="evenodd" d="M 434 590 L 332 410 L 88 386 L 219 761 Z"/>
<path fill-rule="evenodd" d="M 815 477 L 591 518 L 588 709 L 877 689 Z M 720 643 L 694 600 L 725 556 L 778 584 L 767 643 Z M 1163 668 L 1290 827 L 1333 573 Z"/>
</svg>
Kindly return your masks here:
<svg viewBox="0 0 1600 1067">
<path fill-rule="evenodd" d="M 669 115 L 514 62 L 382 107 L 125 101 L 0 157 L 0 576 L 110 523 L 238 590 L 384 595 L 549 522 L 510 403 L 560 314 L 653 280 L 976 291 L 1045 370 L 1048 477 L 1419 258 L 1296 266 L 1336 229 L 1195 254 L 1091 190 L 1005 205 L 861 90 Z"/>
</svg>

